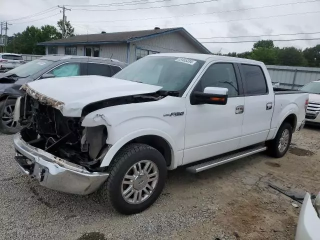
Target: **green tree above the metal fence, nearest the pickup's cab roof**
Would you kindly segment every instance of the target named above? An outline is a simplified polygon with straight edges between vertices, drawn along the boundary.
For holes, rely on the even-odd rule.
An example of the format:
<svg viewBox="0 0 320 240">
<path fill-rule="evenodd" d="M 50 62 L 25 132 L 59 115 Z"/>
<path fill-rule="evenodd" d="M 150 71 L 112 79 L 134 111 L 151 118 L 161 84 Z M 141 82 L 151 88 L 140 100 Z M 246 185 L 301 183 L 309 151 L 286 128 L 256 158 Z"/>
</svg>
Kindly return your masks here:
<svg viewBox="0 0 320 240">
<path fill-rule="evenodd" d="M 253 48 L 250 58 L 257 61 L 262 61 L 264 64 L 275 65 L 277 64 L 277 48 Z"/>
</svg>

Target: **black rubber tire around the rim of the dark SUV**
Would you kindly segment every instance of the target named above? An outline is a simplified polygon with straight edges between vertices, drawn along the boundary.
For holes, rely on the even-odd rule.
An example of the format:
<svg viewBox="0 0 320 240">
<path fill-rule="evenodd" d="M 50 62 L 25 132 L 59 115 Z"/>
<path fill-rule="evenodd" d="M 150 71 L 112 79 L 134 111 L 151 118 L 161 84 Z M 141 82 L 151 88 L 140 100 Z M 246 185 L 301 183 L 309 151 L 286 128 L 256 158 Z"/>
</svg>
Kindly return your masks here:
<svg viewBox="0 0 320 240">
<path fill-rule="evenodd" d="M 7 99 L 7 100 L 2 100 L 0 101 L 0 131 L 2 133 L 5 133 L 5 134 L 14 134 L 16 132 L 18 132 L 21 127 L 20 125 L 18 124 L 18 122 L 14 122 L 13 125 L 9 124 L 5 124 L 4 120 L 7 120 L 9 118 L 8 117 L 8 114 L 5 113 L 7 111 L 6 110 L 6 107 L 7 106 L 11 106 L 12 110 L 14 109 L 14 105 L 15 105 L 15 101 L 16 99 L 14 98 L 10 98 L 10 99 Z M 5 105 L 4 105 L 5 104 Z"/>
</svg>

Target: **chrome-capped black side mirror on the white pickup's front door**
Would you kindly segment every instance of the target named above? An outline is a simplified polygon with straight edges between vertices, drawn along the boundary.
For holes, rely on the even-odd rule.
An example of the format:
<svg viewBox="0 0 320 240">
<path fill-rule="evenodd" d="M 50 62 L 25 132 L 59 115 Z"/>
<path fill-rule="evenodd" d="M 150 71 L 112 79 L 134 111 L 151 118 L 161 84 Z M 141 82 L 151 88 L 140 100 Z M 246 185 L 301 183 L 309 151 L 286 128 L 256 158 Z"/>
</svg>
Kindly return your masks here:
<svg viewBox="0 0 320 240">
<path fill-rule="evenodd" d="M 196 104 L 216 104 L 225 105 L 228 99 L 228 88 L 205 87 L 203 92 L 194 91 L 190 96 L 191 105 Z"/>
</svg>

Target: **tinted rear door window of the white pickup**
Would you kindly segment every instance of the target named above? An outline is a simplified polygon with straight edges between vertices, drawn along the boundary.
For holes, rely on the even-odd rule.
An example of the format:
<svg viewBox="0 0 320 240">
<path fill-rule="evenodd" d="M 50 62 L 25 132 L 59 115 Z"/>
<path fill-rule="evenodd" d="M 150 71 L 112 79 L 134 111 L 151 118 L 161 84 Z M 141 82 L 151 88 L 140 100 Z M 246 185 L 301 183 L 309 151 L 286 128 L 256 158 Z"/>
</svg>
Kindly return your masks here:
<svg viewBox="0 0 320 240">
<path fill-rule="evenodd" d="M 245 94 L 265 94 L 267 93 L 266 80 L 260 66 L 241 64 L 244 74 Z"/>
</svg>

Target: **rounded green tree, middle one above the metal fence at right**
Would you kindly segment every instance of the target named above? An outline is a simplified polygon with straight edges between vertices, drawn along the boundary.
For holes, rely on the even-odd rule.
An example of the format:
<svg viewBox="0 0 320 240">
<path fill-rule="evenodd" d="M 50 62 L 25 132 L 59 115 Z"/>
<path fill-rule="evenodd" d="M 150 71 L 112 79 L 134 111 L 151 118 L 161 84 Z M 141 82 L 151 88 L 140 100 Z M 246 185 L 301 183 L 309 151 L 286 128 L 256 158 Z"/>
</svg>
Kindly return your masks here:
<svg viewBox="0 0 320 240">
<path fill-rule="evenodd" d="M 278 51 L 278 64 L 286 66 L 306 66 L 307 61 L 301 49 L 293 46 L 283 47 Z"/>
</svg>

